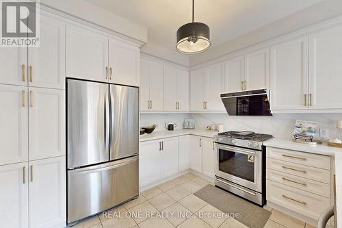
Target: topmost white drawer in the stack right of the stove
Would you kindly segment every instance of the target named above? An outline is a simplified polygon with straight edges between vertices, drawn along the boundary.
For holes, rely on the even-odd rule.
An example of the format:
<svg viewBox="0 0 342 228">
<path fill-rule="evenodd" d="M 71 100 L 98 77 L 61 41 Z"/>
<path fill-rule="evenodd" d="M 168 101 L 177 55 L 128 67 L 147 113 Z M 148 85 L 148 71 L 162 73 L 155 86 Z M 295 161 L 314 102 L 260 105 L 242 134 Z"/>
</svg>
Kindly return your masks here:
<svg viewBox="0 0 342 228">
<path fill-rule="evenodd" d="M 267 147 L 267 157 L 282 160 L 285 162 L 293 162 L 295 164 L 303 164 L 306 166 L 313 166 L 316 168 L 324 168 L 330 170 L 329 156 Z"/>
</svg>

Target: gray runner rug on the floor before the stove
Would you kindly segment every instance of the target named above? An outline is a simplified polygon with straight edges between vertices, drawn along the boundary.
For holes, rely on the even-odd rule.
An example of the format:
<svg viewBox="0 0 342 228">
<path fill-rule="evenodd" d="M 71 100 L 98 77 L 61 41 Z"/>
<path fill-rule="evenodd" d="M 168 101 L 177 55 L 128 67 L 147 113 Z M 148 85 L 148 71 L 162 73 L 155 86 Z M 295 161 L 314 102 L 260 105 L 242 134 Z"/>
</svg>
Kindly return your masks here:
<svg viewBox="0 0 342 228">
<path fill-rule="evenodd" d="M 250 228 L 263 228 L 271 212 L 215 186 L 205 186 L 194 195 L 213 205 L 224 213 L 239 213 L 235 218 Z"/>
</svg>

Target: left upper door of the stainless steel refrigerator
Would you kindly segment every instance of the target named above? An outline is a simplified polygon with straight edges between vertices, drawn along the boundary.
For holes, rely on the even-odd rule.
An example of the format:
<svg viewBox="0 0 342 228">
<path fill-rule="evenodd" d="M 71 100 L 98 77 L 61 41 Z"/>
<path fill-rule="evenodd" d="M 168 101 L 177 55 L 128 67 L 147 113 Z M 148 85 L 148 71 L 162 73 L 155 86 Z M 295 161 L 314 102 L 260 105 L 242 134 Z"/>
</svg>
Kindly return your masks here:
<svg viewBox="0 0 342 228">
<path fill-rule="evenodd" d="M 68 169 L 109 161 L 109 85 L 68 79 Z"/>
</svg>

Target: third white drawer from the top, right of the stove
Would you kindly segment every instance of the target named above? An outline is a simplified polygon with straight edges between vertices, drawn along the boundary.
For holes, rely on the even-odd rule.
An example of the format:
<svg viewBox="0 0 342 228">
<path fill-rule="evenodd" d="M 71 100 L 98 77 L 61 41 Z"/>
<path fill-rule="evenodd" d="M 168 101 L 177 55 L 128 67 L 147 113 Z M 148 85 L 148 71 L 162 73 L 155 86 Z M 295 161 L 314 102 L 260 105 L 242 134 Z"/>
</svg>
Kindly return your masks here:
<svg viewBox="0 0 342 228">
<path fill-rule="evenodd" d="M 266 178 L 293 188 L 299 188 L 304 191 L 319 194 L 322 197 L 330 198 L 330 185 L 328 183 L 321 183 L 268 168 L 266 170 Z"/>
</svg>

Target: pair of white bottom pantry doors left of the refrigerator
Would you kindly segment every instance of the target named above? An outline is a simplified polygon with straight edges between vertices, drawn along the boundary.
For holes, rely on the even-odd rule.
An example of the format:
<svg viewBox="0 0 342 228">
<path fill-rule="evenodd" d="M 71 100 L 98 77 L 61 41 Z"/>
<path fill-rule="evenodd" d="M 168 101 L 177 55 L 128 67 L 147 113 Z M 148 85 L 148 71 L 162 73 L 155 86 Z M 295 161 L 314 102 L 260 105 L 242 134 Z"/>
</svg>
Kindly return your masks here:
<svg viewBox="0 0 342 228">
<path fill-rule="evenodd" d="M 14 228 L 66 225 L 66 157 L 0 166 L 0 219 Z"/>
</svg>

